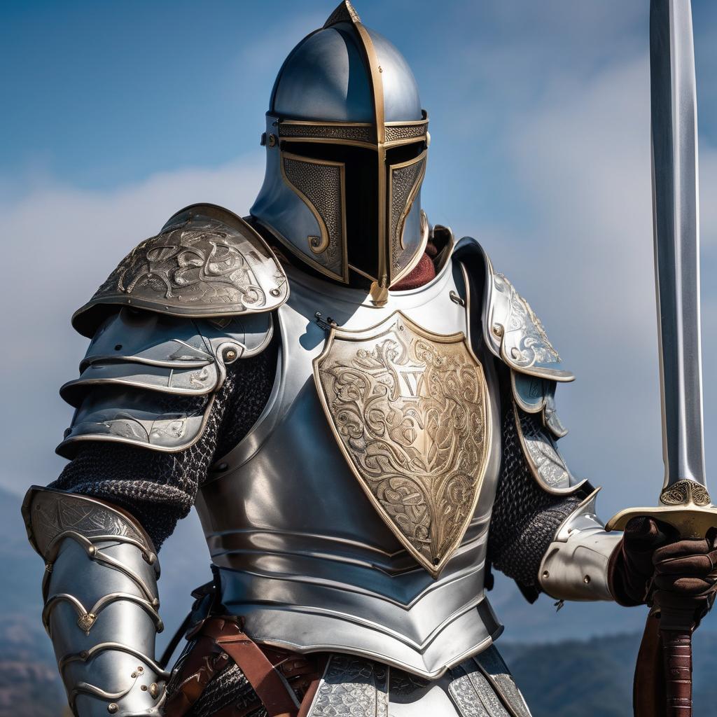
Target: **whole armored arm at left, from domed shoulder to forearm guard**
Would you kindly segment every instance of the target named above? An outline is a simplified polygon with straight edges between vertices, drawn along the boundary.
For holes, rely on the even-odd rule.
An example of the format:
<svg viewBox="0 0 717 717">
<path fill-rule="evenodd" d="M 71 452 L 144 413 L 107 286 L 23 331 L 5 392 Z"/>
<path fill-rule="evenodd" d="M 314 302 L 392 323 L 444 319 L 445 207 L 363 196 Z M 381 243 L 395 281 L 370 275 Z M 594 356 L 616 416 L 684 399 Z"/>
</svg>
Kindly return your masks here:
<svg viewBox="0 0 717 717">
<path fill-rule="evenodd" d="M 130 252 L 73 318 L 92 341 L 80 377 L 60 391 L 76 409 L 57 448 L 70 464 L 51 488 L 29 491 L 24 516 L 79 717 L 161 713 L 156 549 L 215 456 L 265 406 L 271 312 L 287 295 L 246 222 L 195 205 Z"/>
</svg>

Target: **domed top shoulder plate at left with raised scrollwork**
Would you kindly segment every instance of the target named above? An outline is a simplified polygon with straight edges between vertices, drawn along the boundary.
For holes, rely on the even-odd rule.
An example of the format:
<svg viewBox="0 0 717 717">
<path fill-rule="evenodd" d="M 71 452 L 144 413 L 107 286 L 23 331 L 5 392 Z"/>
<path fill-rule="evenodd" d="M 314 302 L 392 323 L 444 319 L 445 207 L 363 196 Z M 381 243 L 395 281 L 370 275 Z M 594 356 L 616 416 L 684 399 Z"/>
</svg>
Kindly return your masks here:
<svg viewBox="0 0 717 717">
<path fill-rule="evenodd" d="M 72 326 L 92 336 L 108 305 L 206 318 L 270 311 L 288 295 L 280 263 L 250 224 L 220 206 L 192 204 L 120 262 Z"/>
</svg>

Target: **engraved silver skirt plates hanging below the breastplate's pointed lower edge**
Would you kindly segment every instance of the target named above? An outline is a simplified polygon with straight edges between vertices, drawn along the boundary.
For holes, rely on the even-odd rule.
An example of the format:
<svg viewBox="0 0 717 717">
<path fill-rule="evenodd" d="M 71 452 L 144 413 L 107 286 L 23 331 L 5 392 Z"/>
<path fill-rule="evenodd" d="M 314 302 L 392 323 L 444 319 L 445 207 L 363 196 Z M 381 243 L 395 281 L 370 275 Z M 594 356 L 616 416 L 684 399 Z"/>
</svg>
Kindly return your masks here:
<svg viewBox="0 0 717 717">
<path fill-rule="evenodd" d="M 332 655 L 308 717 L 530 717 L 495 647 L 436 680 L 364 657 Z"/>
</svg>

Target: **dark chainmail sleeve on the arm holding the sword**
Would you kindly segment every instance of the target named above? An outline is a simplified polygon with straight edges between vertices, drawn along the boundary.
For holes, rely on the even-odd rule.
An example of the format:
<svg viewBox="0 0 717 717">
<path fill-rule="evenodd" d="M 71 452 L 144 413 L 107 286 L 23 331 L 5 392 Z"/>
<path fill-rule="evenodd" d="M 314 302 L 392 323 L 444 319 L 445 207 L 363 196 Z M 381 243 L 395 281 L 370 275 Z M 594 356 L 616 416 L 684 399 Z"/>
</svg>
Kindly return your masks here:
<svg viewBox="0 0 717 717">
<path fill-rule="evenodd" d="M 584 495 L 563 497 L 543 490 L 523 455 L 510 402 L 503 418 L 503 461 L 488 535 L 496 569 L 523 588 L 538 589 L 538 570 L 560 524 Z"/>
</svg>

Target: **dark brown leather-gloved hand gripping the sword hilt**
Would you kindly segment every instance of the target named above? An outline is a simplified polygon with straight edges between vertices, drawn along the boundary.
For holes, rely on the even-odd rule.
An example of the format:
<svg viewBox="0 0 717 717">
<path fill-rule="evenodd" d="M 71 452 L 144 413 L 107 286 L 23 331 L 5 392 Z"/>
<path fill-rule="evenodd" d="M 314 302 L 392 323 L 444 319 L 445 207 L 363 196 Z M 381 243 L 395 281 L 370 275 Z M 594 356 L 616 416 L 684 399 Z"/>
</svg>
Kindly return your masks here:
<svg viewBox="0 0 717 717">
<path fill-rule="evenodd" d="M 632 518 L 610 570 L 610 590 L 623 605 L 654 604 L 663 630 L 699 624 L 717 592 L 717 536 L 680 540 L 652 518 Z M 670 624 L 665 622 L 668 620 Z"/>
</svg>

